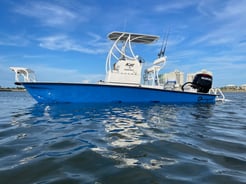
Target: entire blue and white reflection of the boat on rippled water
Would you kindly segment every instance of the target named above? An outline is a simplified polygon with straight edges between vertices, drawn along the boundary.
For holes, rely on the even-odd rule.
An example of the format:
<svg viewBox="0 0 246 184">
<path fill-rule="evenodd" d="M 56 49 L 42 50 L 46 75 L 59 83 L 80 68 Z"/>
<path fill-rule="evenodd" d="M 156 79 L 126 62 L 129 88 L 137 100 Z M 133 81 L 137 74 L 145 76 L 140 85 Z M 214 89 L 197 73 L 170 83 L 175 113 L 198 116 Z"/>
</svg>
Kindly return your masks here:
<svg viewBox="0 0 246 184">
<path fill-rule="evenodd" d="M 35 104 L 29 112 L 24 112 L 27 114 L 24 122 L 36 127 L 35 142 L 44 147 L 43 155 L 61 156 L 91 150 L 114 160 L 116 167 L 158 169 L 177 162 L 172 154 L 160 153 L 166 152 L 172 143 L 176 144 L 180 133 L 192 131 L 192 125 L 185 120 L 192 116 L 193 119 L 194 116 L 209 118 L 211 106 Z M 18 117 L 17 113 L 13 121 L 23 123 Z M 26 134 L 28 137 L 29 133 Z M 53 144 L 61 146 L 60 142 L 64 141 L 71 142 L 71 147 L 54 150 Z"/>
</svg>

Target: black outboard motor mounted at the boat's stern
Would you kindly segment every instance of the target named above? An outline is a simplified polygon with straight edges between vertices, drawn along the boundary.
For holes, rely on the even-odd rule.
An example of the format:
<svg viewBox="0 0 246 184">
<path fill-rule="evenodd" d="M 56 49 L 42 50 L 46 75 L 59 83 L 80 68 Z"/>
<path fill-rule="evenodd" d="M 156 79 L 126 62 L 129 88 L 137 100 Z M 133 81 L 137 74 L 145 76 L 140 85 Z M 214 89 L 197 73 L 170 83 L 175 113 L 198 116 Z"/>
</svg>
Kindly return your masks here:
<svg viewBox="0 0 246 184">
<path fill-rule="evenodd" d="M 205 73 L 198 73 L 195 75 L 192 82 L 186 82 L 182 85 L 182 91 L 184 91 L 184 86 L 191 84 L 193 89 L 197 89 L 197 92 L 208 93 L 212 87 L 213 77 L 212 75 Z"/>
</svg>

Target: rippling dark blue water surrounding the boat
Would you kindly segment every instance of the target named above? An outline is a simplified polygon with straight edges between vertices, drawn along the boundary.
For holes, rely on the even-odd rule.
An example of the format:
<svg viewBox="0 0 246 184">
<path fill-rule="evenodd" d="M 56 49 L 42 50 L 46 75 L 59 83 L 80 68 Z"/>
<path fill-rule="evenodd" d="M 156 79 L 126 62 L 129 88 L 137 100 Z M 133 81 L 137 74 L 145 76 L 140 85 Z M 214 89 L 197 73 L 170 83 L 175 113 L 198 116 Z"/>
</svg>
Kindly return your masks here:
<svg viewBox="0 0 246 184">
<path fill-rule="evenodd" d="M 0 183 L 246 183 L 246 93 L 226 97 L 47 106 L 0 92 Z"/>
</svg>

